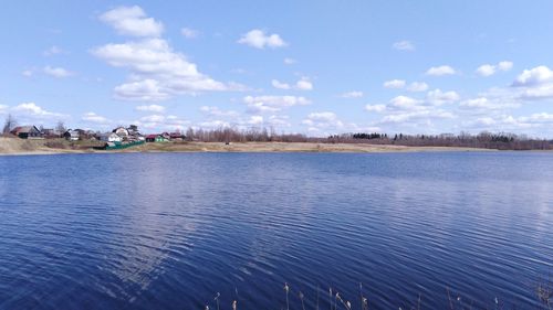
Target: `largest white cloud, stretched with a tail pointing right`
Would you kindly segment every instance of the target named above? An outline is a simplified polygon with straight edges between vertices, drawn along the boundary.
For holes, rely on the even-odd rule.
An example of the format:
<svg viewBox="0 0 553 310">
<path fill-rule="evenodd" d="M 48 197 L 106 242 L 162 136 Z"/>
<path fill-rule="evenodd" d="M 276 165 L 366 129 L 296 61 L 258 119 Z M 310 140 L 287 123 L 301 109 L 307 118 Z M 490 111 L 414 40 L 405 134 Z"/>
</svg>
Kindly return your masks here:
<svg viewBox="0 0 553 310">
<path fill-rule="evenodd" d="M 115 67 L 131 71 L 131 81 L 115 87 L 115 96 L 128 100 L 165 100 L 181 94 L 210 90 L 241 90 L 200 73 L 185 55 L 173 51 L 167 41 L 146 39 L 106 44 L 92 53 Z"/>
</svg>

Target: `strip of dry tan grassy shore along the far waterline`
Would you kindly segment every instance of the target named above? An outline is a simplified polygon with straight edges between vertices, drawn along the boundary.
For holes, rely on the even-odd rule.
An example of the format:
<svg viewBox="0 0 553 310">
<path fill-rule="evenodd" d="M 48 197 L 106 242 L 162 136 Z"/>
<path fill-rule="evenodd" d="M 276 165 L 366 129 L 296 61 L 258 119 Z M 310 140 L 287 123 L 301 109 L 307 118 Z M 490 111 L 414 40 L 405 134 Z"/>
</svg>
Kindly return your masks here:
<svg viewBox="0 0 553 310">
<path fill-rule="evenodd" d="M 0 138 L 0 156 L 59 154 L 59 153 L 114 153 L 114 152 L 426 152 L 426 151 L 489 151 L 473 148 L 375 146 L 366 143 L 304 143 L 304 142 L 167 142 L 146 143 L 123 150 L 94 150 L 85 142 L 71 145 L 56 141 L 55 147 L 48 140 L 21 140 Z"/>
</svg>

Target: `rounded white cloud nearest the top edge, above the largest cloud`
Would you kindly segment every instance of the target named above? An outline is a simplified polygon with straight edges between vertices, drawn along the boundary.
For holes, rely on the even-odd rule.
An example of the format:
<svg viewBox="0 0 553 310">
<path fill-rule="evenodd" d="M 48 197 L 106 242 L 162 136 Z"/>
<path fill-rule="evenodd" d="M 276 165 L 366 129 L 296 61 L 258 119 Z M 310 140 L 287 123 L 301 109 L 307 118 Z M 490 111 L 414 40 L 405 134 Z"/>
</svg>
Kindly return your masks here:
<svg viewBox="0 0 553 310">
<path fill-rule="evenodd" d="M 100 20 L 109 24 L 118 34 L 131 36 L 159 36 L 164 32 L 161 22 L 147 18 L 140 7 L 119 7 L 103 13 Z"/>
</svg>

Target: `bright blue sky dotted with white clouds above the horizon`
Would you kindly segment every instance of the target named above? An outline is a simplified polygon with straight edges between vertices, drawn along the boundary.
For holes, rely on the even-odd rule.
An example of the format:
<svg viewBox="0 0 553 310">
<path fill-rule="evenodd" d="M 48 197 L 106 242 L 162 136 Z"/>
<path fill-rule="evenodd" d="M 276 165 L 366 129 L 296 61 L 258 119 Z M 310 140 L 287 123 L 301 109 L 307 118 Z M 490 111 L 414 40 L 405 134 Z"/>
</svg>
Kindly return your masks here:
<svg viewBox="0 0 553 310">
<path fill-rule="evenodd" d="M 553 138 L 553 1 L 4 1 L 0 119 Z"/>
</svg>

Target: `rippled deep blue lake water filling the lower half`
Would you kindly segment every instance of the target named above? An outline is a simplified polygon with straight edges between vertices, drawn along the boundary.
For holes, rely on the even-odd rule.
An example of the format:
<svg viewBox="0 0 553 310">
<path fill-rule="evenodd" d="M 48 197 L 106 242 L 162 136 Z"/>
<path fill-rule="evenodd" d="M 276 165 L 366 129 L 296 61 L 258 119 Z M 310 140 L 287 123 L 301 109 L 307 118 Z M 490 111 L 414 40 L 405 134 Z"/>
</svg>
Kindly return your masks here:
<svg viewBox="0 0 553 310">
<path fill-rule="evenodd" d="M 535 309 L 550 274 L 552 153 L 0 157 L 0 309 Z"/>
</svg>

